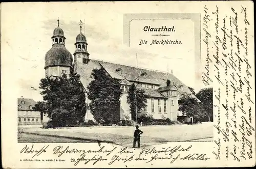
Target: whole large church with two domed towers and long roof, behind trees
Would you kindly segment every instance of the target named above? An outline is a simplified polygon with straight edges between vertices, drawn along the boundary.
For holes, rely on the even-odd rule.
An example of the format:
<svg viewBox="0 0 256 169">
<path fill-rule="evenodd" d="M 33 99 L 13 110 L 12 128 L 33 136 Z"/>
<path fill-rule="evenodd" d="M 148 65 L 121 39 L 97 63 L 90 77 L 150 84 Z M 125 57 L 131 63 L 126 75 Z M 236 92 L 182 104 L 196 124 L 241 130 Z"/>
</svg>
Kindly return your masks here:
<svg viewBox="0 0 256 169">
<path fill-rule="evenodd" d="M 120 98 L 120 120 L 131 120 L 128 91 L 132 83 L 137 88 L 144 89 L 149 96 L 147 106 L 138 111 L 140 113 L 151 114 L 155 119 L 169 118 L 176 121 L 179 115 L 178 101 L 184 97 L 194 97 L 186 85 L 175 77 L 172 73 L 155 70 L 142 69 L 137 67 L 125 66 L 89 58 L 88 43 L 86 36 L 81 32 L 75 40 L 76 50 L 74 52 L 74 63 L 72 54 L 65 47 L 65 36 L 63 30 L 58 26 L 53 32 L 52 48 L 45 55 L 46 77 L 59 77 L 63 74 L 69 76 L 74 71 L 81 77 L 80 80 L 87 92 L 92 70 L 103 68 L 112 78 L 120 79 L 123 94 Z M 197 99 L 197 98 L 196 98 Z M 198 100 L 199 101 L 199 100 Z M 87 104 L 90 104 L 88 97 Z M 87 110 L 85 120 L 94 120 L 90 110 Z"/>
</svg>

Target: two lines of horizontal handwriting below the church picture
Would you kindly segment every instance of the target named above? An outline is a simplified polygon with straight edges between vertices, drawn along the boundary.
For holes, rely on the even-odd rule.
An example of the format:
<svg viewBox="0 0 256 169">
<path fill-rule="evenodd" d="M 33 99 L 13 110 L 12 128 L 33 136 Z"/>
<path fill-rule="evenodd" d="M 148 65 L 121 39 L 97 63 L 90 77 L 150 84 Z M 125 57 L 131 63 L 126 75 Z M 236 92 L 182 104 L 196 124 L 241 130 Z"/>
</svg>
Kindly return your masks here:
<svg viewBox="0 0 256 169">
<path fill-rule="evenodd" d="M 46 151 L 47 150 L 47 151 Z M 183 147 L 181 145 L 175 147 L 161 147 L 159 148 L 142 148 L 140 151 L 136 151 L 131 148 L 117 148 L 113 146 L 112 148 L 106 148 L 104 146 L 98 149 L 76 149 L 70 146 L 56 146 L 54 148 L 49 148 L 48 146 L 43 146 L 42 148 L 35 150 L 34 146 L 26 145 L 20 153 L 32 154 L 31 158 L 37 157 L 41 158 L 41 153 L 52 153 L 56 160 L 42 160 L 42 161 L 60 161 L 60 158 L 72 157 L 70 162 L 74 165 L 85 165 L 85 164 L 96 164 L 105 161 L 108 165 L 113 165 L 115 163 L 129 163 L 132 161 L 143 161 L 145 163 L 153 163 L 157 161 L 164 161 L 170 164 L 175 161 L 207 161 L 210 158 L 206 154 L 196 152 L 192 149 L 192 146 Z M 39 159 L 36 159 L 39 161 Z M 31 160 L 29 160 L 31 161 Z"/>
</svg>

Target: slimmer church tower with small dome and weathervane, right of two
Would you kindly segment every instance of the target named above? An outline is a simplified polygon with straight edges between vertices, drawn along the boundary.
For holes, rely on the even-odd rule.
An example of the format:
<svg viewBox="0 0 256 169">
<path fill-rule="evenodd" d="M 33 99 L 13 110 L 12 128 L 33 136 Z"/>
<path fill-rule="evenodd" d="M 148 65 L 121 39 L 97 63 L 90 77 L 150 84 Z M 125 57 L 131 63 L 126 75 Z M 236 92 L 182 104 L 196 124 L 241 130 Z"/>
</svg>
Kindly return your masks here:
<svg viewBox="0 0 256 169">
<path fill-rule="evenodd" d="M 88 64 L 89 53 L 87 51 L 87 40 L 86 36 L 82 34 L 82 26 L 80 24 L 80 34 L 76 36 L 76 50 L 74 52 L 74 71 L 76 71 L 77 63 Z"/>
</svg>

